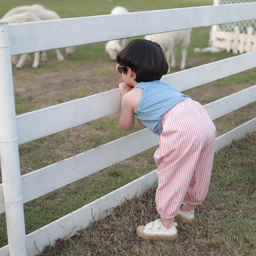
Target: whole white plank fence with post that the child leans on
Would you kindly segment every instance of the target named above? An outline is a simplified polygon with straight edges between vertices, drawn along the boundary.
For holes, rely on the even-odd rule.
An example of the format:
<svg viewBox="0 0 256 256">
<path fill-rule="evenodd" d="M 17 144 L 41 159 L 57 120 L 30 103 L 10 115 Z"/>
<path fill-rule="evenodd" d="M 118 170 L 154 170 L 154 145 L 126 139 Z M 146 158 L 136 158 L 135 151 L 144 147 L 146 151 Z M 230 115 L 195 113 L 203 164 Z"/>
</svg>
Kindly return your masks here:
<svg viewBox="0 0 256 256">
<path fill-rule="evenodd" d="M 19 144 L 119 112 L 120 95 L 119 89 L 114 89 L 16 117 L 11 55 L 255 18 L 256 3 L 246 3 L 0 24 L 0 213 L 6 213 L 8 234 L 8 245 L 0 249 L 0 255 L 35 255 L 44 246 L 54 245 L 55 239 L 73 236 L 92 220 L 107 216 L 124 198 L 140 195 L 157 179 L 154 170 L 25 236 L 24 203 L 151 148 L 158 144 L 158 136 L 144 129 L 20 176 Z M 254 67 L 256 51 L 161 80 L 183 91 Z M 204 107 L 214 120 L 255 99 L 256 85 Z M 216 150 L 255 129 L 256 118 L 216 138 Z"/>
</svg>

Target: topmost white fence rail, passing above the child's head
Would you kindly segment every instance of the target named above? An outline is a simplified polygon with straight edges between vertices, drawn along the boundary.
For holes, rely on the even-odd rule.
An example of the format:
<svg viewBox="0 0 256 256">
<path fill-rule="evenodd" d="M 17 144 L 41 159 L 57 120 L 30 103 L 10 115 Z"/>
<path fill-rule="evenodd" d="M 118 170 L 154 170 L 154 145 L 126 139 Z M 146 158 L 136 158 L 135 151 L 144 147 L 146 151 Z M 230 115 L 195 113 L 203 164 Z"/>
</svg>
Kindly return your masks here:
<svg viewBox="0 0 256 256">
<path fill-rule="evenodd" d="M 10 25 L 11 54 L 38 52 L 255 18 L 256 3 L 240 3 L 12 24 Z"/>
</svg>

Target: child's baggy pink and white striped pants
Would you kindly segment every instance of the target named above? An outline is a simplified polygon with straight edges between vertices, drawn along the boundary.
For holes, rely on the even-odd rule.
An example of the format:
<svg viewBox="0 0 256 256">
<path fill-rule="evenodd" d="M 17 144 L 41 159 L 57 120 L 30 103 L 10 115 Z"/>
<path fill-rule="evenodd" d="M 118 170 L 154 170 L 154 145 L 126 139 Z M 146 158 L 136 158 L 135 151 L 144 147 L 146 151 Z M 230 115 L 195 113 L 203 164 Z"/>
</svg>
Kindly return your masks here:
<svg viewBox="0 0 256 256">
<path fill-rule="evenodd" d="M 157 212 L 178 214 L 184 197 L 201 204 L 208 192 L 215 151 L 215 125 L 204 107 L 190 98 L 167 111 L 154 158 L 157 165 Z"/>
</svg>

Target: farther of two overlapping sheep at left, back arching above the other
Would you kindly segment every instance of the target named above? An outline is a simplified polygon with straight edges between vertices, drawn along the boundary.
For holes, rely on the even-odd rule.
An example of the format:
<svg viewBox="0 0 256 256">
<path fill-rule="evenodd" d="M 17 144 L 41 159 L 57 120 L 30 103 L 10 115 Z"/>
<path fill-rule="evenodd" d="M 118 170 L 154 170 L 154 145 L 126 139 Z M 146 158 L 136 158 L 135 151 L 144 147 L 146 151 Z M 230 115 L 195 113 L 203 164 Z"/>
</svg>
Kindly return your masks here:
<svg viewBox="0 0 256 256">
<path fill-rule="evenodd" d="M 41 20 L 49 20 L 49 19 L 60 19 L 61 17 L 54 11 L 45 9 L 44 6 L 35 4 L 31 6 L 18 6 L 14 7 L 11 10 L 9 10 L 3 18 L 10 17 L 15 14 L 23 13 L 23 12 L 29 12 L 34 15 L 36 15 L 38 18 Z M 67 55 L 72 55 L 76 50 L 76 46 L 72 47 L 67 47 L 66 48 L 66 53 Z M 59 49 L 55 49 L 57 59 L 58 60 L 64 60 L 64 57 L 62 56 L 61 52 Z M 46 61 L 47 60 L 47 55 L 46 51 L 42 52 L 41 55 L 41 60 Z"/>
</svg>

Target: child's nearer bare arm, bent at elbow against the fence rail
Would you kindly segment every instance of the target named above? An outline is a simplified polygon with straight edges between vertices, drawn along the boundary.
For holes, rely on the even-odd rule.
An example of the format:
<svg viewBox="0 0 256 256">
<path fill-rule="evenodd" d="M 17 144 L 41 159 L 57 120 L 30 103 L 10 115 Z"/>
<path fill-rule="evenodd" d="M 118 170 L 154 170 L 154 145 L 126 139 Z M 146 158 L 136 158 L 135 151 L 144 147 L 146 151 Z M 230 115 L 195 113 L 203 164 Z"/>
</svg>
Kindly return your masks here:
<svg viewBox="0 0 256 256">
<path fill-rule="evenodd" d="M 133 98 L 130 95 L 132 87 L 125 83 L 119 84 L 120 88 L 120 115 L 119 125 L 120 127 L 128 131 L 134 126 L 134 112 L 133 112 Z"/>
</svg>

